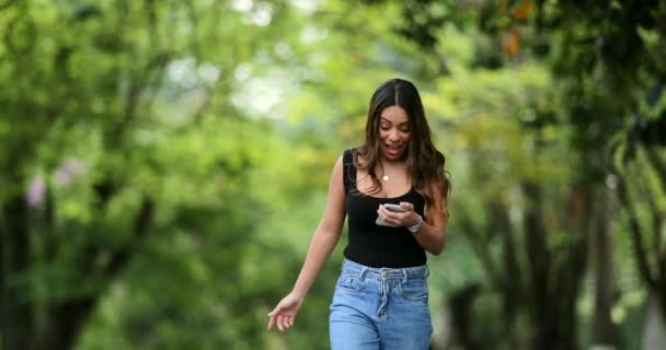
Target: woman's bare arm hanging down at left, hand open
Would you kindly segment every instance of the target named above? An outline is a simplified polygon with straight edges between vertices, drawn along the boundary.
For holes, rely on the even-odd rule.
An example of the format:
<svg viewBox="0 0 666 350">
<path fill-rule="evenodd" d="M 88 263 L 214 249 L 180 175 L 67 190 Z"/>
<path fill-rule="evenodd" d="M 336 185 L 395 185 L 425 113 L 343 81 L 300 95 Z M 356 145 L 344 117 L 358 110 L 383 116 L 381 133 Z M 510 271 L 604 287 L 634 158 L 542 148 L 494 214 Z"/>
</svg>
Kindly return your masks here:
<svg viewBox="0 0 666 350">
<path fill-rule="evenodd" d="M 277 328 L 280 331 L 294 325 L 294 318 L 298 314 L 308 291 L 314 283 L 319 271 L 328 260 L 331 252 L 337 245 L 345 218 L 344 200 L 343 164 L 342 156 L 340 156 L 333 166 L 329 183 L 326 207 L 310 241 L 303 267 L 298 275 L 291 292 L 268 314 L 271 317 L 268 330 L 275 324 L 277 324 Z"/>
</svg>

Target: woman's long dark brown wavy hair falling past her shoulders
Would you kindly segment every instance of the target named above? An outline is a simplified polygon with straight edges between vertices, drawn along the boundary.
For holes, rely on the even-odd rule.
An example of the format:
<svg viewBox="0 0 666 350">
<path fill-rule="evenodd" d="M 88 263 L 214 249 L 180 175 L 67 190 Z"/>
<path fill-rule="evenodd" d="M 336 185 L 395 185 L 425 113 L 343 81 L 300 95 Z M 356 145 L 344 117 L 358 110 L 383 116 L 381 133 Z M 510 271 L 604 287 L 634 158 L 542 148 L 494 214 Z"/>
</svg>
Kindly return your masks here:
<svg viewBox="0 0 666 350">
<path fill-rule="evenodd" d="M 424 197 L 426 206 L 434 206 L 435 185 L 443 189 L 444 200 L 448 202 L 451 185 L 448 172 L 445 171 L 446 159 L 433 144 L 418 91 L 406 80 L 391 79 L 379 85 L 372 94 L 366 124 L 366 140 L 361 147 L 354 150 L 354 165 L 370 175 L 370 192 L 379 192 L 381 182 L 375 171 L 380 162 L 379 124 L 381 112 L 391 106 L 402 107 L 410 121 L 411 138 L 406 164 L 414 189 Z M 358 161 L 359 158 L 363 163 Z M 447 207 L 445 210 L 448 211 Z"/>
</svg>

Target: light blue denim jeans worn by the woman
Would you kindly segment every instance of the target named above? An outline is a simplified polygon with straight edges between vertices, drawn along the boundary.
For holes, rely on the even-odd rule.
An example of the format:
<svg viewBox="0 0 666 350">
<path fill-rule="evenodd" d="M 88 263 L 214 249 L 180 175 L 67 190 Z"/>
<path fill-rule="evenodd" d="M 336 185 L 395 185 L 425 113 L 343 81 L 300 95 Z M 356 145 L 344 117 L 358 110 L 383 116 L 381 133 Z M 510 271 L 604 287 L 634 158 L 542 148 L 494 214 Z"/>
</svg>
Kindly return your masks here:
<svg viewBox="0 0 666 350">
<path fill-rule="evenodd" d="M 345 259 L 329 319 L 332 350 L 426 350 L 427 266 L 370 268 Z"/>
</svg>

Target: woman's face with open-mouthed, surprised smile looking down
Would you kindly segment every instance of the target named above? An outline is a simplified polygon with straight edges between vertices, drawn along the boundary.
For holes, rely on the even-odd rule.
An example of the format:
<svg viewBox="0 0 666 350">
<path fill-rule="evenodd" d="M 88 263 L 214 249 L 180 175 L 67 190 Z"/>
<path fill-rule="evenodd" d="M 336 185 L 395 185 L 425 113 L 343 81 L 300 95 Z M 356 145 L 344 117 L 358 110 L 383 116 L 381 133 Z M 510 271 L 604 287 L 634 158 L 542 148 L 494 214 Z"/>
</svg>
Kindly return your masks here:
<svg viewBox="0 0 666 350">
<path fill-rule="evenodd" d="M 381 112 L 379 118 L 379 142 L 382 155 L 388 161 L 403 159 L 412 137 L 406 112 L 400 106 L 390 106 Z"/>
</svg>

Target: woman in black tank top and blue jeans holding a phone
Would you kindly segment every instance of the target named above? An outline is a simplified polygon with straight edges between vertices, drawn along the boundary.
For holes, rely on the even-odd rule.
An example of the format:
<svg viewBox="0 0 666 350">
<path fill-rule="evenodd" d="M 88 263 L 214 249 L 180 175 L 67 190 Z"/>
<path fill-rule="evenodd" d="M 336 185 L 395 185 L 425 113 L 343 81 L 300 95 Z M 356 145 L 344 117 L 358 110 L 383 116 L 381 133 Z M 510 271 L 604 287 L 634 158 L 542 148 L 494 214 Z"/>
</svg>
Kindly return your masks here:
<svg viewBox="0 0 666 350">
<path fill-rule="evenodd" d="M 290 328 L 348 215 L 348 245 L 329 319 L 331 347 L 427 349 L 426 254 L 444 249 L 450 184 L 409 81 L 381 84 L 370 101 L 365 143 L 346 150 L 292 291 L 268 314 L 268 330 Z M 386 205 L 398 205 L 388 208 Z"/>
</svg>

